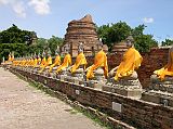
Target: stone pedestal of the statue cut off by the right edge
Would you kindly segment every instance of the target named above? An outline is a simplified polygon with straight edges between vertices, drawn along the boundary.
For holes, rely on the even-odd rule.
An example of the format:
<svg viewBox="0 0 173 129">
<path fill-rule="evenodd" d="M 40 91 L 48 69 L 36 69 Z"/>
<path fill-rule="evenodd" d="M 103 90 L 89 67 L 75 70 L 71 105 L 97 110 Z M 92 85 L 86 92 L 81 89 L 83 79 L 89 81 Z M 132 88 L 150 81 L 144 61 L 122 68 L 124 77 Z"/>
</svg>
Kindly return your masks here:
<svg viewBox="0 0 173 129">
<path fill-rule="evenodd" d="M 173 106 L 173 77 L 165 77 L 161 81 L 156 75 L 152 75 L 150 79 L 151 83 L 143 93 L 142 100 L 163 104 L 164 106 Z"/>
</svg>

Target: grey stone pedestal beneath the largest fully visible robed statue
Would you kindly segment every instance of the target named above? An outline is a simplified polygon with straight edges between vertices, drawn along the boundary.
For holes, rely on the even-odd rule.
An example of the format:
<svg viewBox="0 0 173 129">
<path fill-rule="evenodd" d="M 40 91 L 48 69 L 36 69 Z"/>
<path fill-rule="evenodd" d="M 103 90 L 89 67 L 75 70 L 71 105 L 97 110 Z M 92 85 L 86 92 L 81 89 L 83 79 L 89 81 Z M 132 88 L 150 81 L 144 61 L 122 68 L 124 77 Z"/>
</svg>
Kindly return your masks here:
<svg viewBox="0 0 173 129">
<path fill-rule="evenodd" d="M 107 83 L 103 87 L 104 91 L 118 93 L 131 99 L 141 99 L 142 98 L 142 86 L 138 79 L 120 79 L 112 83 Z"/>
</svg>

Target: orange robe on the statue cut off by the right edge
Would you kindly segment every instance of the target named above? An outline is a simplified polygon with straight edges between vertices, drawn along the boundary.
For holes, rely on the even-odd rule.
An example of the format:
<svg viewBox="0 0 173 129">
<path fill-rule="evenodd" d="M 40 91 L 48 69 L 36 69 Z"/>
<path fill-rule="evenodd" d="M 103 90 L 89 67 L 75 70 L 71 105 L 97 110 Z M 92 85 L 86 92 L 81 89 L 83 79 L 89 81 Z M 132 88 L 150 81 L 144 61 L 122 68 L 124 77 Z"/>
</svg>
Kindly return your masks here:
<svg viewBox="0 0 173 129">
<path fill-rule="evenodd" d="M 173 77 L 173 52 L 169 52 L 169 62 L 168 64 L 162 67 L 161 69 L 155 70 L 154 73 L 158 75 L 161 80 L 164 80 L 165 76 Z"/>
</svg>

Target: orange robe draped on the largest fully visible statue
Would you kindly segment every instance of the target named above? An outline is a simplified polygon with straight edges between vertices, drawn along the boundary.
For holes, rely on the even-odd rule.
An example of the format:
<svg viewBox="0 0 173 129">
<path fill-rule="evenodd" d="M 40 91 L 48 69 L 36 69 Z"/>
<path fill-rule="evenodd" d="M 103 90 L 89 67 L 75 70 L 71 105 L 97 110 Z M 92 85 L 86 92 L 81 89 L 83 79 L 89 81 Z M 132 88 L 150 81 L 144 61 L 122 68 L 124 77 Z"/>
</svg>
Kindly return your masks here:
<svg viewBox="0 0 173 129">
<path fill-rule="evenodd" d="M 122 62 L 118 66 L 115 80 L 131 76 L 133 72 L 141 66 L 142 61 L 143 57 L 137 50 L 134 48 L 128 49 L 123 55 Z"/>
</svg>

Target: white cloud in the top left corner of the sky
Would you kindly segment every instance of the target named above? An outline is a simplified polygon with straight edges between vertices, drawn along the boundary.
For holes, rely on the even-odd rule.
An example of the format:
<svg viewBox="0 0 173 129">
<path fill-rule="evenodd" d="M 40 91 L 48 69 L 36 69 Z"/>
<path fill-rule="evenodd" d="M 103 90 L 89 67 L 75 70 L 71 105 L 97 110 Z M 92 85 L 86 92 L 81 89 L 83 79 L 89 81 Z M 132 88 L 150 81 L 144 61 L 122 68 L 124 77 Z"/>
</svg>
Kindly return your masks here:
<svg viewBox="0 0 173 129">
<path fill-rule="evenodd" d="M 26 17 L 26 9 L 22 0 L 0 0 L 0 5 L 9 5 L 18 17 Z"/>
</svg>

